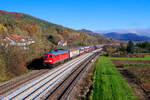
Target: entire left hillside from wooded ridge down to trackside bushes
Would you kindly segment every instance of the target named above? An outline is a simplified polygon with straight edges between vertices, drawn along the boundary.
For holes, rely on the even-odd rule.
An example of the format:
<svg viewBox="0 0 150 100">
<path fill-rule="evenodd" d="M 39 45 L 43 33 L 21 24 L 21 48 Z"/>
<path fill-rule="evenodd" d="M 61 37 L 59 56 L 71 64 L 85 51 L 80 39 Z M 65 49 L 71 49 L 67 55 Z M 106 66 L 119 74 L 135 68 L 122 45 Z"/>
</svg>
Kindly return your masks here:
<svg viewBox="0 0 150 100">
<path fill-rule="evenodd" d="M 25 47 L 12 46 L 8 45 L 10 42 L 7 41 L 8 38 L 17 42 L 31 43 L 32 41 L 33 43 Z M 60 40 L 65 43 L 67 41 L 67 47 L 58 46 Z M 0 10 L 0 82 L 32 69 L 42 69 L 42 56 L 45 51 L 105 42 L 100 40 L 101 38 L 85 32 L 53 24 L 27 14 Z"/>
</svg>

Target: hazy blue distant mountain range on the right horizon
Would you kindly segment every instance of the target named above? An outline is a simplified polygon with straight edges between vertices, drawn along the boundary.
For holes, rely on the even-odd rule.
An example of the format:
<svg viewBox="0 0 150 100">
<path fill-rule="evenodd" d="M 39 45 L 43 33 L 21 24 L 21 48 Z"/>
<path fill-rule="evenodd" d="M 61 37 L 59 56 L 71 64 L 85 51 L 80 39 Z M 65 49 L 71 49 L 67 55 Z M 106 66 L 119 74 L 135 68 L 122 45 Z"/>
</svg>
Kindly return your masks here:
<svg viewBox="0 0 150 100">
<path fill-rule="evenodd" d="M 113 40 L 121 40 L 121 41 L 150 41 L 150 38 L 147 36 L 139 36 L 134 33 L 125 33 L 125 34 L 119 34 L 116 32 L 106 33 L 104 36 L 112 38 Z"/>
</svg>

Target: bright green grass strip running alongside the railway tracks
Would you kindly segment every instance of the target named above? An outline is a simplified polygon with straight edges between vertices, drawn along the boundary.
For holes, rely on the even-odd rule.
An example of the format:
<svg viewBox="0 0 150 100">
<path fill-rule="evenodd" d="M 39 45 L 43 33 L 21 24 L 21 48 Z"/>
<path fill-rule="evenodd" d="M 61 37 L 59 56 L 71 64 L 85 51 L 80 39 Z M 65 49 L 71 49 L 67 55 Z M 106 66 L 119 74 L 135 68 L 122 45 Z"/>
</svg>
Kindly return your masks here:
<svg viewBox="0 0 150 100">
<path fill-rule="evenodd" d="M 132 89 L 107 57 L 100 57 L 95 65 L 92 100 L 137 100 Z"/>
</svg>

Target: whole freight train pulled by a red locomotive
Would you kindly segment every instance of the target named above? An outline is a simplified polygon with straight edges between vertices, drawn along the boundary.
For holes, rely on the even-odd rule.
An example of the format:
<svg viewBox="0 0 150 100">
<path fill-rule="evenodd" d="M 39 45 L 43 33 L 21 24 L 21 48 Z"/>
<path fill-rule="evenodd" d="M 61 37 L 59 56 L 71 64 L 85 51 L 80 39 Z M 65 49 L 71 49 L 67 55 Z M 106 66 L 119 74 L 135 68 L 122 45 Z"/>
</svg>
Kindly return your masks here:
<svg viewBox="0 0 150 100">
<path fill-rule="evenodd" d="M 79 55 L 83 55 L 85 53 L 96 50 L 97 48 L 99 48 L 99 45 L 79 47 L 76 49 L 68 49 L 68 50 L 64 50 L 64 49 L 51 50 L 44 54 L 43 64 L 44 66 L 54 66 L 56 64 L 65 62 Z"/>
</svg>

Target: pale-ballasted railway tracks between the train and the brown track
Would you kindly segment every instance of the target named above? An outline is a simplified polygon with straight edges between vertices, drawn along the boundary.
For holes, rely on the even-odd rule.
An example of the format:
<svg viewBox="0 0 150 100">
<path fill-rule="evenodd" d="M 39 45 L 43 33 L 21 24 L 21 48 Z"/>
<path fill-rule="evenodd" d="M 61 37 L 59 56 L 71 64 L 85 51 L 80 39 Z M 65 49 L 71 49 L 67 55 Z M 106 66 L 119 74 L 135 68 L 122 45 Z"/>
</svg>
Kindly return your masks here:
<svg viewBox="0 0 150 100">
<path fill-rule="evenodd" d="M 27 82 L 20 87 L 7 92 L 5 95 L 0 97 L 1 100 L 31 100 L 31 99 L 41 99 L 46 93 L 51 90 L 56 84 L 61 82 L 65 77 L 67 77 L 72 70 L 75 70 L 77 65 L 92 56 L 93 53 L 87 53 L 78 58 L 75 58 L 64 65 L 52 69 L 50 72 Z"/>
</svg>

